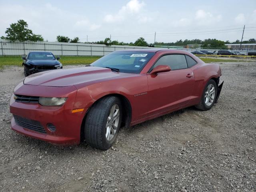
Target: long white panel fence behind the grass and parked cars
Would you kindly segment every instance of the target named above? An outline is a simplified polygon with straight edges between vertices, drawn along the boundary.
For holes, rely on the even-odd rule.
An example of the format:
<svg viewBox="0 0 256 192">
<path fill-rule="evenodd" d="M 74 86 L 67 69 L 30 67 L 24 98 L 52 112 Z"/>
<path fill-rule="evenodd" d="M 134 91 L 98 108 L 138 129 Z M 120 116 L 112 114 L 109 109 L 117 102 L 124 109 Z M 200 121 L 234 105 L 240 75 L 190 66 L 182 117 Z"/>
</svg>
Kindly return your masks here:
<svg viewBox="0 0 256 192">
<path fill-rule="evenodd" d="M 57 56 L 104 56 L 116 50 L 125 49 L 142 49 L 150 47 L 139 46 L 121 46 L 112 45 L 106 46 L 102 44 L 85 44 L 85 43 L 62 43 L 62 42 L 10 42 L 10 40 L 0 40 L 0 56 L 24 56 L 30 51 L 49 51 Z M 198 49 L 192 48 L 172 48 L 186 50 L 192 52 Z M 216 49 L 209 49 L 209 51 L 216 51 Z M 240 51 L 246 54 L 248 51 Z"/>
</svg>

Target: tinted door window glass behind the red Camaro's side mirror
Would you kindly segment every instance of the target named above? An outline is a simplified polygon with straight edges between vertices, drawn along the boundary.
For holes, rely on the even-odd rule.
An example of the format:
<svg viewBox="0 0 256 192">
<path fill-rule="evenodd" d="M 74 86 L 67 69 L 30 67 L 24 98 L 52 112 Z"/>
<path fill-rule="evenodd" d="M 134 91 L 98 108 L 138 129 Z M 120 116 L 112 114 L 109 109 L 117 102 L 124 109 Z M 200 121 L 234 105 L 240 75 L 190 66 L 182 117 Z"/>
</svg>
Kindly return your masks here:
<svg viewBox="0 0 256 192">
<path fill-rule="evenodd" d="M 188 68 L 185 55 L 182 54 L 164 55 L 158 59 L 154 67 L 158 65 L 168 65 L 171 70 Z"/>
</svg>

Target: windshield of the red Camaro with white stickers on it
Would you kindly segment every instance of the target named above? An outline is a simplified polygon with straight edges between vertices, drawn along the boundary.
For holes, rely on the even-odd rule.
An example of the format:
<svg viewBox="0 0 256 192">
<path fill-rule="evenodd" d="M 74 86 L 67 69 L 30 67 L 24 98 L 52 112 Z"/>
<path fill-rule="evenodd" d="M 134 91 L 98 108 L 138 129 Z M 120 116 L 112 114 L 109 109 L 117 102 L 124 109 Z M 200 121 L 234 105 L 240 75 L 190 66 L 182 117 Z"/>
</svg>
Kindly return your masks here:
<svg viewBox="0 0 256 192">
<path fill-rule="evenodd" d="M 140 73 L 155 53 L 138 51 L 112 52 L 90 64 L 96 67 L 108 67 L 124 73 Z"/>
</svg>

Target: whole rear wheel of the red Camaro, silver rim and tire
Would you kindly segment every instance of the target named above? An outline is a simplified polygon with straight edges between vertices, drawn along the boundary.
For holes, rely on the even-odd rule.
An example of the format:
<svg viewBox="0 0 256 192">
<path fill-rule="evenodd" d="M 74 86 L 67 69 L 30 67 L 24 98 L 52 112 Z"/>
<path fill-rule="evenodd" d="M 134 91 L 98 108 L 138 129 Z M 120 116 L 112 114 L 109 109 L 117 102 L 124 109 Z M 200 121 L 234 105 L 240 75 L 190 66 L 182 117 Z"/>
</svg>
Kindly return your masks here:
<svg viewBox="0 0 256 192">
<path fill-rule="evenodd" d="M 200 110 L 209 110 L 215 103 L 217 96 L 217 84 L 213 79 L 210 79 L 204 88 L 201 101 L 196 108 Z"/>
</svg>

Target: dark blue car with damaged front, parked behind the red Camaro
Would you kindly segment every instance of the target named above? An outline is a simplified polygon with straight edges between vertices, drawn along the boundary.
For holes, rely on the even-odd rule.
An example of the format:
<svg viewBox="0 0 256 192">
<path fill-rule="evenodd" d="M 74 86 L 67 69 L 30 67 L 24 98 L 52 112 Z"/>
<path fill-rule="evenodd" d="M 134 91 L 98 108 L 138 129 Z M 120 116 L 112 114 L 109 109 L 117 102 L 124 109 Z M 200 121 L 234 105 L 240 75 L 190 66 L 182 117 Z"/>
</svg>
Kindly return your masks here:
<svg viewBox="0 0 256 192">
<path fill-rule="evenodd" d="M 25 77 L 37 72 L 62 69 L 62 64 L 58 61 L 60 57 L 55 57 L 51 52 L 29 52 L 22 59 Z"/>
</svg>

